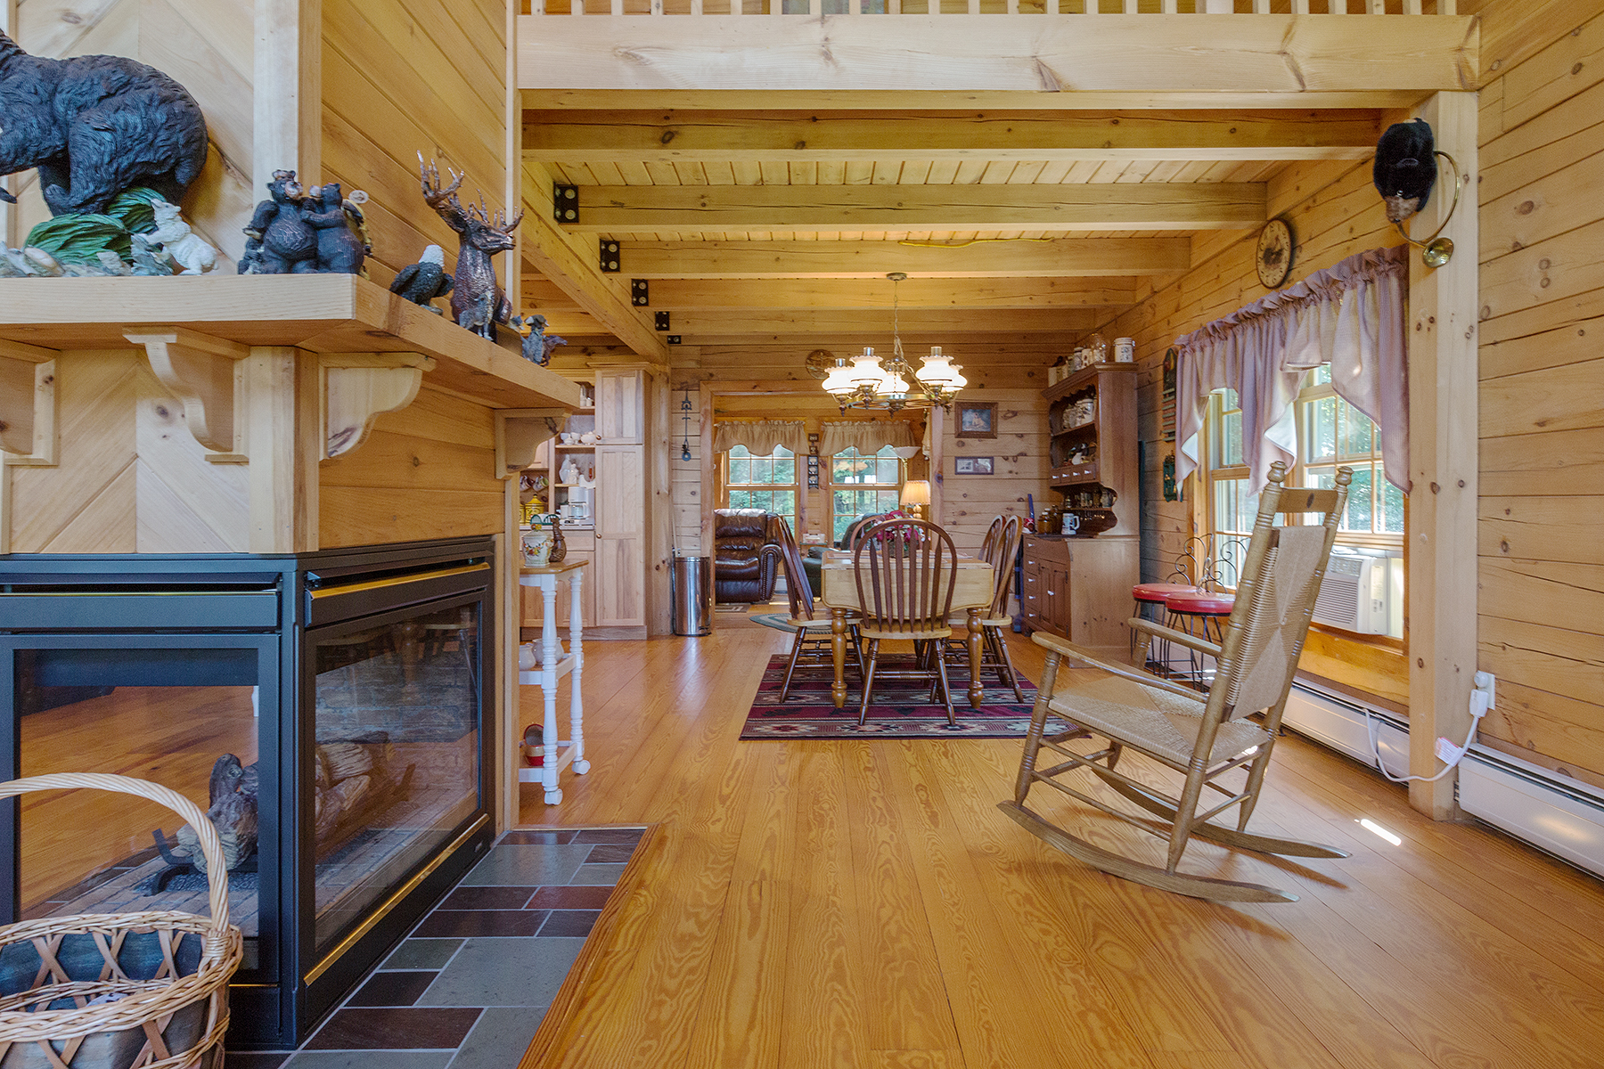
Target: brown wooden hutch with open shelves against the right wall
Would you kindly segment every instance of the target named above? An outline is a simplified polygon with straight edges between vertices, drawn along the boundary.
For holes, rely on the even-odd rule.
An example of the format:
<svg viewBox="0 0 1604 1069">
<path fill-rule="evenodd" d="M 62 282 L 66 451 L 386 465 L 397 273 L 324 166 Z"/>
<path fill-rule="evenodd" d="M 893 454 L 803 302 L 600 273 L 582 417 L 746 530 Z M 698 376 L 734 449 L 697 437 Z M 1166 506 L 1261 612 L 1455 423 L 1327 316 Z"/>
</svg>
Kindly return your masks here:
<svg viewBox="0 0 1604 1069">
<path fill-rule="evenodd" d="M 1123 651 L 1140 575 L 1136 365 L 1096 364 L 1043 397 L 1052 489 L 1076 532 L 1025 537 L 1025 630 Z"/>
</svg>

